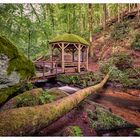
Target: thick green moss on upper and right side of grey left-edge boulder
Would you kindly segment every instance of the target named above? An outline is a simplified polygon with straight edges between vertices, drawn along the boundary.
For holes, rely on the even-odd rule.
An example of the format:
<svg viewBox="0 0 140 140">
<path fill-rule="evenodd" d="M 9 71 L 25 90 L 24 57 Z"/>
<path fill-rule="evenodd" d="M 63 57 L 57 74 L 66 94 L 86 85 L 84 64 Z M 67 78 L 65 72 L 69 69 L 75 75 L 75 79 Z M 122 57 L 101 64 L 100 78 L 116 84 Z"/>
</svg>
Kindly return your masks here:
<svg viewBox="0 0 140 140">
<path fill-rule="evenodd" d="M 9 57 L 8 74 L 12 71 L 18 72 L 21 80 L 25 80 L 35 75 L 35 67 L 33 63 L 24 55 L 19 54 L 17 48 L 5 37 L 0 37 L 0 54 Z"/>
</svg>

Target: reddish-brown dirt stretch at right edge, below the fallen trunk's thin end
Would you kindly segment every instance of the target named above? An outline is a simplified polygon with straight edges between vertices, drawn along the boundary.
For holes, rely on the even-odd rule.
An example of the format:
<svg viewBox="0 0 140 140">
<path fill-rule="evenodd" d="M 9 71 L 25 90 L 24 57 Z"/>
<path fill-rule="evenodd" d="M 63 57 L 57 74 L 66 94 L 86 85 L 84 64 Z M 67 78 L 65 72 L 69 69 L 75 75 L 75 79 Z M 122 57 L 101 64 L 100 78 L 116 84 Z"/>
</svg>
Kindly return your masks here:
<svg viewBox="0 0 140 140">
<path fill-rule="evenodd" d="M 131 124 L 140 127 L 140 97 L 138 97 L 140 90 L 137 92 L 134 90 L 134 92 L 137 93 L 136 96 L 108 88 L 94 101 L 110 108 L 114 114 L 123 117 Z"/>
</svg>

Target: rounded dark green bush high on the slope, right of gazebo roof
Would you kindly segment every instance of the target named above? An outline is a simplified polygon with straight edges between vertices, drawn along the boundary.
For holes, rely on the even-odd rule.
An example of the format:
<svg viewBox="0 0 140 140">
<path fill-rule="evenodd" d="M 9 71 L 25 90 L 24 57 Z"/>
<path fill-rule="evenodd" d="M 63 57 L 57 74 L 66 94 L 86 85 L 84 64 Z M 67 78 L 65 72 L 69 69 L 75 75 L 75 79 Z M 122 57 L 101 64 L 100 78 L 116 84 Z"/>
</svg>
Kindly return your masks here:
<svg viewBox="0 0 140 140">
<path fill-rule="evenodd" d="M 127 22 L 116 23 L 110 33 L 111 38 L 115 40 L 123 39 L 129 32 Z"/>
</svg>

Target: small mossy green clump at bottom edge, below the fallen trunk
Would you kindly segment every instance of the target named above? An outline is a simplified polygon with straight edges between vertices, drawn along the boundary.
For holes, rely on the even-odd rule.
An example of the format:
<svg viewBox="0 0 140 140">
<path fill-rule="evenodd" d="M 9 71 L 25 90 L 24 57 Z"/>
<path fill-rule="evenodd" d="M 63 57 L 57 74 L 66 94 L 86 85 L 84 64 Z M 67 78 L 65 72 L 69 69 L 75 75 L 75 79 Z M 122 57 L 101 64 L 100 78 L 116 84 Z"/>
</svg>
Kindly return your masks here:
<svg viewBox="0 0 140 140">
<path fill-rule="evenodd" d="M 69 126 L 68 127 L 70 136 L 83 136 L 83 132 L 79 126 Z"/>
</svg>

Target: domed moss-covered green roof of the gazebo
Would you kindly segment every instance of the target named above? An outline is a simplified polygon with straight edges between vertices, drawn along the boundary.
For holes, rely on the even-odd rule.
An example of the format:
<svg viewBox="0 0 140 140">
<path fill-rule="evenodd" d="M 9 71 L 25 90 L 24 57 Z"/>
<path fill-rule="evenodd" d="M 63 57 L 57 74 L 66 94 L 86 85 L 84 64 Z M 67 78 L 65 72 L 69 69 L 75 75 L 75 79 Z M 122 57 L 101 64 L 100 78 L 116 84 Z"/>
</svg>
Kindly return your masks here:
<svg viewBox="0 0 140 140">
<path fill-rule="evenodd" d="M 89 46 L 89 43 L 82 37 L 75 34 L 68 34 L 68 33 L 65 33 L 65 34 L 62 34 L 53 38 L 52 40 L 50 40 L 49 43 L 52 44 L 56 42 L 80 43 L 80 44 Z"/>
</svg>

